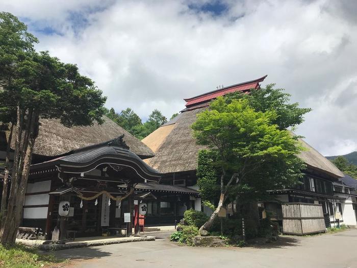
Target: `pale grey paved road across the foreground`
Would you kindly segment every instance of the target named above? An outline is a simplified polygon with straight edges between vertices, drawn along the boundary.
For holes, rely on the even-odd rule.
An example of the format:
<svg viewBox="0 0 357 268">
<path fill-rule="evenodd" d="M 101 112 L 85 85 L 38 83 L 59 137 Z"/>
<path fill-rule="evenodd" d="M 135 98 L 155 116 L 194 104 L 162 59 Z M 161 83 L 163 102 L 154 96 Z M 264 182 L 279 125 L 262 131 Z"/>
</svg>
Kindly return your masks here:
<svg viewBox="0 0 357 268">
<path fill-rule="evenodd" d="M 162 236 L 167 236 L 161 234 Z M 247 248 L 190 248 L 156 241 L 56 252 L 70 267 L 357 267 L 357 229 L 311 237 L 284 236 L 278 242 Z"/>
</svg>

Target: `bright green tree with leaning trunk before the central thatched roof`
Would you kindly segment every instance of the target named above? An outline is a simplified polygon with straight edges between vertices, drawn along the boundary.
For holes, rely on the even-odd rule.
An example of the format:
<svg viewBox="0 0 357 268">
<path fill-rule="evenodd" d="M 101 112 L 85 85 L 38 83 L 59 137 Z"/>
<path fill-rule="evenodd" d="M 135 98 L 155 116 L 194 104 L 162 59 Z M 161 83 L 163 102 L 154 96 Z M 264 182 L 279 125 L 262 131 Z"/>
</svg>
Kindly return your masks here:
<svg viewBox="0 0 357 268">
<path fill-rule="evenodd" d="M 193 135 L 217 155 L 212 164 L 219 170 L 220 186 L 217 209 L 200 231 L 211 228 L 227 199 L 242 194 L 258 198 L 303 176 L 305 164 L 297 157 L 302 148 L 289 131 L 273 124 L 276 119 L 273 110 L 255 111 L 248 100 L 222 97 L 197 115 Z"/>
</svg>

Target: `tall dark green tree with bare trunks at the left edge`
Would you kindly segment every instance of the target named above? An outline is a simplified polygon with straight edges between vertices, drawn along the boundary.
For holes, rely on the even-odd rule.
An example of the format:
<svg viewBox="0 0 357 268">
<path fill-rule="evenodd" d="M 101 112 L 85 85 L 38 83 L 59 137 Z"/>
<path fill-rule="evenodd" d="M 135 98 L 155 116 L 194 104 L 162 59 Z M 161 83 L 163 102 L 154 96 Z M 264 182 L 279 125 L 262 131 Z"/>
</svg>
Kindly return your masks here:
<svg viewBox="0 0 357 268">
<path fill-rule="evenodd" d="M 5 34 L 0 36 L 0 50 L 11 54 L 8 46 L 14 44 L 3 39 L 10 32 L 22 40 L 26 27 L 11 14 L 1 15 L 6 19 L 1 25 L 0 33 Z M 9 17 L 12 19 L 7 19 Z M 19 28 L 22 30 L 18 31 Z M 28 40 L 29 45 L 34 40 Z M 64 64 L 48 52 L 36 53 L 22 47 L 18 51 L 12 69 L 8 73 L 2 70 L 0 75 L 0 109 L 15 115 L 15 120 L 12 116 L 2 118 L 5 123 L 8 119 L 15 125 L 15 148 L 10 194 L 0 229 L 1 243 L 15 242 L 40 118 L 56 118 L 67 127 L 92 125 L 93 121 L 102 123 L 106 101 L 93 81 L 79 74 L 76 65 Z M 5 53 L 5 57 L 8 54 Z"/>
</svg>

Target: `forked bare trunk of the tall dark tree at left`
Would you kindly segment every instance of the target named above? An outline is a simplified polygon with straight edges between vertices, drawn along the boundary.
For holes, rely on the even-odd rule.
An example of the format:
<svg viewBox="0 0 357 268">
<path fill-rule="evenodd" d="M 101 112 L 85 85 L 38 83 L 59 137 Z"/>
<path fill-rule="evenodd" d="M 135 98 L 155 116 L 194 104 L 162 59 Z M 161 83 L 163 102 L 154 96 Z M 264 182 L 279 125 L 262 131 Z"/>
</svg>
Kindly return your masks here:
<svg viewBox="0 0 357 268">
<path fill-rule="evenodd" d="M 30 165 L 32 160 L 32 152 L 35 145 L 35 140 L 38 135 L 38 114 L 32 113 L 27 140 L 22 138 L 22 122 L 24 113 L 20 108 L 17 108 L 17 125 L 16 125 L 16 147 L 14 156 L 13 176 L 11 180 L 10 196 L 8 202 L 8 212 L 5 217 L 4 224 L 0 229 L 0 242 L 4 244 L 15 243 L 17 229 L 20 225 L 22 215 L 22 205 L 25 197 L 27 181 L 30 172 Z M 22 117 L 22 118 L 21 118 Z M 22 142 L 21 142 L 22 141 Z M 22 154 L 20 148 L 25 148 L 26 152 Z M 22 167 L 22 168 L 21 168 Z"/>
</svg>

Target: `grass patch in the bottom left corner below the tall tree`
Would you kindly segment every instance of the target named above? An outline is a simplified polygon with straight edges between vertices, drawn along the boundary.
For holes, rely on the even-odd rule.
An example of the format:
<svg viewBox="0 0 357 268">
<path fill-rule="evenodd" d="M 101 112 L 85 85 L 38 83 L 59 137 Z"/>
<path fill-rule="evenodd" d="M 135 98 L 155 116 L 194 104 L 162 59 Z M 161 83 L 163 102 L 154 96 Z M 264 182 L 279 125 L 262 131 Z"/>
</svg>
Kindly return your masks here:
<svg viewBox="0 0 357 268">
<path fill-rule="evenodd" d="M 4 268 L 37 268 L 58 267 L 68 261 L 57 259 L 53 254 L 39 254 L 36 249 L 22 245 L 0 245 L 0 267 Z"/>
</svg>

